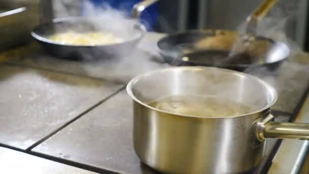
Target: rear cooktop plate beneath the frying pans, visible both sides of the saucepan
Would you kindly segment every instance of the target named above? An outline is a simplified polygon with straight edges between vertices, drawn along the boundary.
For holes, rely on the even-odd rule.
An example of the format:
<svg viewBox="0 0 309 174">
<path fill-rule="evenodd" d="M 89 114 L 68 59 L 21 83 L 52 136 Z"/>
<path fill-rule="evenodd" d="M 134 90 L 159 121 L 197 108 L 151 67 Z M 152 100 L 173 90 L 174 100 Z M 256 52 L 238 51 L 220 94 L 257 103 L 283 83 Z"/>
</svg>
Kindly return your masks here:
<svg viewBox="0 0 309 174">
<path fill-rule="evenodd" d="M 137 49 L 132 55 L 124 56 L 123 61 L 116 61 L 114 63 L 104 61 L 85 63 L 60 60 L 46 55 L 46 53 L 39 50 L 39 47 L 32 48 L 33 51 L 28 51 L 26 56 L 16 50 L 0 54 L 0 59 L 4 57 L 11 64 L 128 82 L 140 73 L 168 67 L 168 65 L 151 61 L 153 56 L 158 57 L 157 54 L 159 51 L 156 44 L 164 36 L 164 34 L 147 33 L 138 46 L 138 48 L 146 52 L 140 52 L 140 49 Z M 18 58 L 15 59 L 16 57 Z M 285 61 L 279 66 L 276 71 L 271 71 L 267 68 L 252 68 L 246 70 L 246 73 L 258 76 L 276 89 L 278 101 L 272 109 L 292 114 L 309 82 L 309 62 L 307 61 L 307 57 L 308 55 L 293 55 L 288 58 L 288 61 Z M 301 60 L 298 60 L 300 58 Z M 143 66 L 139 66 L 135 62 L 139 62 Z M 131 68 L 128 68 L 129 66 Z"/>
</svg>

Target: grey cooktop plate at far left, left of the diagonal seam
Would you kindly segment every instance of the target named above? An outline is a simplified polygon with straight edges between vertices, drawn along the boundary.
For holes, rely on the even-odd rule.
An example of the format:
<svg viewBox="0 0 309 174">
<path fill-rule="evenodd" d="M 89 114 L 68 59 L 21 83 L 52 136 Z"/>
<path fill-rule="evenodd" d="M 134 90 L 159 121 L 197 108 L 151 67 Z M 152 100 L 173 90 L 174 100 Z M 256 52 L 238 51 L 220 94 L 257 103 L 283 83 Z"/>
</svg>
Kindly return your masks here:
<svg viewBox="0 0 309 174">
<path fill-rule="evenodd" d="M 0 66 L 0 143 L 26 149 L 122 85 Z"/>
</svg>

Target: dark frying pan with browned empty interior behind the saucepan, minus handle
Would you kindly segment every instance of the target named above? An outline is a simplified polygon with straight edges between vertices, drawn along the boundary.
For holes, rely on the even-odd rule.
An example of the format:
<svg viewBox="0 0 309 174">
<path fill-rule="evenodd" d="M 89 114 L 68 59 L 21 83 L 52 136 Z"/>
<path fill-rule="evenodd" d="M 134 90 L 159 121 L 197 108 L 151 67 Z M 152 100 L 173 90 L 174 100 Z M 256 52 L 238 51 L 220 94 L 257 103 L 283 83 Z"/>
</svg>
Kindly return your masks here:
<svg viewBox="0 0 309 174">
<path fill-rule="evenodd" d="M 246 46 L 235 48 L 233 31 L 197 30 L 171 34 L 158 42 L 164 60 L 176 66 L 216 66 L 243 71 L 253 66 L 275 69 L 289 55 L 282 42 L 255 36 Z"/>
</svg>

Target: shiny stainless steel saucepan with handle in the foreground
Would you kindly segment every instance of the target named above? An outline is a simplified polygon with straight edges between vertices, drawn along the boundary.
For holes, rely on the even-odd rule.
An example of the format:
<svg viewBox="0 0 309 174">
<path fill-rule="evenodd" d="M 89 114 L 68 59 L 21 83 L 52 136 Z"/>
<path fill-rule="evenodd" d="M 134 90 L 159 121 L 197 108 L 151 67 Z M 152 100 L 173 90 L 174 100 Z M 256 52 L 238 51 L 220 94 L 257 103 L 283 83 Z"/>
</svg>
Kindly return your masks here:
<svg viewBox="0 0 309 174">
<path fill-rule="evenodd" d="M 162 172 L 250 172 L 264 155 L 265 138 L 309 139 L 309 124 L 272 122 L 270 107 L 277 94 L 269 84 L 248 74 L 210 67 L 174 67 L 134 78 L 127 91 L 134 106 L 135 151 L 142 162 Z M 220 109 L 202 115 L 185 108 L 198 109 L 195 104 L 165 100 L 167 96 L 219 98 L 223 103 Z M 201 103 L 194 101 L 195 97 L 188 101 Z M 170 109 L 153 105 L 162 99 L 174 101 Z M 222 115 L 221 110 L 229 103 L 224 101 L 250 109 Z M 211 107 L 208 103 L 204 108 Z M 215 111 L 218 115 L 213 115 Z"/>
</svg>

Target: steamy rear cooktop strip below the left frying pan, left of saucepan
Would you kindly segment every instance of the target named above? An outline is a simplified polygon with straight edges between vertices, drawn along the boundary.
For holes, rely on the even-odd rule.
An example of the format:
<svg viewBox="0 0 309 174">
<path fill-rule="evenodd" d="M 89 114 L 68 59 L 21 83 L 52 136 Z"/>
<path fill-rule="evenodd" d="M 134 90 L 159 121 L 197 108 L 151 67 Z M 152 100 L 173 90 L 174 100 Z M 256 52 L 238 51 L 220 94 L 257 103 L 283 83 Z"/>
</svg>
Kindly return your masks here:
<svg viewBox="0 0 309 174">
<path fill-rule="evenodd" d="M 137 49 L 131 50 L 130 54 L 119 57 L 119 59 L 110 60 L 108 57 L 102 56 L 100 61 L 70 61 L 52 57 L 43 52 L 38 45 L 33 45 L 25 49 L 28 51 L 27 53 L 24 53 L 24 48 L 0 53 L 0 60 L 3 57 L 10 64 L 43 68 L 127 84 L 132 78 L 143 72 L 168 66 L 152 61 L 153 59 L 157 60 L 159 56 L 156 45 L 158 38 L 162 36 L 164 35 L 147 33 L 138 44 Z M 160 58 L 158 59 L 160 60 Z"/>
</svg>

